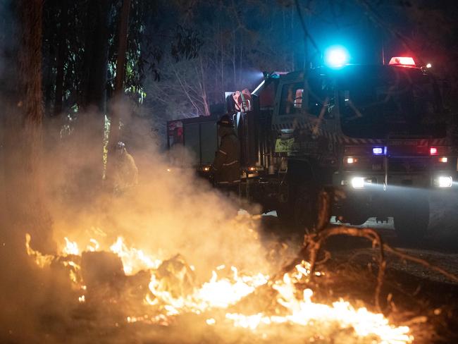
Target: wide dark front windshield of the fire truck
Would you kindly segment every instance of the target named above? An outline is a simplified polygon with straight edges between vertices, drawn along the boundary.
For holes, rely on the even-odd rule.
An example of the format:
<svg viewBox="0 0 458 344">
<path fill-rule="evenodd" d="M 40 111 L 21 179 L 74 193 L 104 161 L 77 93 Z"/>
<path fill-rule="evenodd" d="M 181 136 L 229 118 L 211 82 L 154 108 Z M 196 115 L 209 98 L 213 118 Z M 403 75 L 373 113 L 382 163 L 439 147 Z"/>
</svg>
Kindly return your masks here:
<svg viewBox="0 0 458 344">
<path fill-rule="evenodd" d="M 416 68 L 380 66 L 338 79 L 342 132 L 350 137 L 445 137 L 438 87 Z"/>
</svg>

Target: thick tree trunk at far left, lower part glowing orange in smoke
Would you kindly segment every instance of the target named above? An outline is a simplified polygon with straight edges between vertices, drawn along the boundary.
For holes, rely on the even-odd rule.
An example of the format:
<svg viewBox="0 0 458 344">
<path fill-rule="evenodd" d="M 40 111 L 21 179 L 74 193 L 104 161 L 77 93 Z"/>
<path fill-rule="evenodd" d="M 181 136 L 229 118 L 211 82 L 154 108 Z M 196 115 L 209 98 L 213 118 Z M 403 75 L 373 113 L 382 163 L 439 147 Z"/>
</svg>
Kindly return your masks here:
<svg viewBox="0 0 458 344">
<path fill-rule="evenodd" d="M 6 239 L 23 248 L 25 233 L 35 247 L 51 250 L 51 221 L 44 204 L 42 185 L 42 1 L 20 0 L 19 47 L 11 50 L 10 66 L 16 70 L 6 104 L 5 191 Z"/>
</svg>

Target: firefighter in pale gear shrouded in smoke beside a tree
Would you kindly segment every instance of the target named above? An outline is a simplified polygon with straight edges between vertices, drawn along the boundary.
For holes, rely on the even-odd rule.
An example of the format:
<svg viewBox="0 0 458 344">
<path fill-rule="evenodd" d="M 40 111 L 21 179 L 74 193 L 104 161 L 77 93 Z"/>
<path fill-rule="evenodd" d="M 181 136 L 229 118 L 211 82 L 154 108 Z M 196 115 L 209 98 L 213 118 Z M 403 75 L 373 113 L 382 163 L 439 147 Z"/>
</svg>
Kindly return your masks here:
<svg viewBox="0 0 458 344">
<path fill-rule="evenodd" d="M 124 142 L 118 142 L 116 145 L 116 161 L 113 175 L 114 192 L 122 193 L 123 191 L 137 185 L 138 168 L 135 160 L 125 149 Z"/>
</svg>

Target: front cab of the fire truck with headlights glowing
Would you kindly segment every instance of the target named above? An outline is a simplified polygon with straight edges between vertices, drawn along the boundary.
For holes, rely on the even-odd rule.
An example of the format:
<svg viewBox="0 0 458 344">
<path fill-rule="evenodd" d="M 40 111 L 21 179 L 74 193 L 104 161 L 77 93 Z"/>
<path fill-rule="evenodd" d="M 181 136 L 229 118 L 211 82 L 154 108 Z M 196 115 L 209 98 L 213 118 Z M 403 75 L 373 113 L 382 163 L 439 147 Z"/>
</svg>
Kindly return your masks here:
<svg viewBox="0 0 458 344">
<path fill-rule="evenodd" d="M 400 238 L 422 238 L 428 190 L 450 190 L 457 176 L 438 82 L 400 63 L 317 68 L 304 77 L 280 78 L 273 111 L 275 153 L 287 156 L 286 216 L 313 223 L 319 209 L 309 204 L 324 189 L 338 220 L 392 216 Z"/>
</svg>

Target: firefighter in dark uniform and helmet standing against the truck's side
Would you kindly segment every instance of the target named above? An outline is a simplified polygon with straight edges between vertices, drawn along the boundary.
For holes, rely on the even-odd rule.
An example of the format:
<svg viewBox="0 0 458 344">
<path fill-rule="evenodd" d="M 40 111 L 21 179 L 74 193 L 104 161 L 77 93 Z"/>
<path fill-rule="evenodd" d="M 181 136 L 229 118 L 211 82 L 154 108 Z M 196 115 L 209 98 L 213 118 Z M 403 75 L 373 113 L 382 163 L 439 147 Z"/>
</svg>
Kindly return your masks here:
<svg viewBox="0 0 458 344">
<path fill-rule="evenodd" d="M 239 193 L 240 185 L 240 142 L 234 130 L 232 116 L 221 116 L 218 137 L 221 142 L 211 165 L 211 176 L 217 188 L 226 192 Z"/>
</svg>

